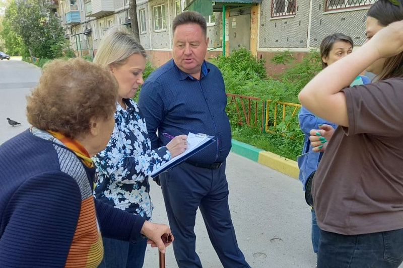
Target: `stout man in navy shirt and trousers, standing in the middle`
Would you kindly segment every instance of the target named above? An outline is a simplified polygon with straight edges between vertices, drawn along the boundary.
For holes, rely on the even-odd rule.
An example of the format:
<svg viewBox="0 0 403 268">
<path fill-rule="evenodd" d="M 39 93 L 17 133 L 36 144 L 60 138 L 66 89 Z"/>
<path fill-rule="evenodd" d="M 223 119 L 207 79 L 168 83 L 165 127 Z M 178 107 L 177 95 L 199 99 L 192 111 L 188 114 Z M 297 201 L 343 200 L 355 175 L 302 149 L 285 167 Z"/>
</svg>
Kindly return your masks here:
<svg viewBox="0 0 403 268">
<path fill-rule="evenodd" d="M 174 19 L 172 30 L 173 59 L 148 77 L 138 102 L 152 147 L 161 147 L 170 136 L 188 132 L 204 133 L 216 140 L 160 175 L 175 236 L 175 258 L 179 268 L 202 267 L 195 252 L 193 231 L 200 208 L 223 266 L 250 268 L 238 247 L 228 207 L 225 159 L 231 149 L 231 127 L 225 112 L 227 97 L 222 74 L 205 61 L 209 43 L 206 20 L 196 12 L 184 12 Z"/>
</svg>

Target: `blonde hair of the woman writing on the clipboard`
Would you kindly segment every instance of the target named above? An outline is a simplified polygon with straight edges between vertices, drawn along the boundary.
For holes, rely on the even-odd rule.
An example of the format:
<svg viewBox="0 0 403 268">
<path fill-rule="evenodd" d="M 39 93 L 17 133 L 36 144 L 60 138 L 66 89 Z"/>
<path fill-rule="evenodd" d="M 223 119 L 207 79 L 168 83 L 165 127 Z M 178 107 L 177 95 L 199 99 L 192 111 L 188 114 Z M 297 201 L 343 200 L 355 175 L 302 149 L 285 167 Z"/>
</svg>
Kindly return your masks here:
<svg viewBox="0 0 403 268">
<path fill-rule="evenodd" d="M 123 65 L 133 54 L 141 54 L 147 58 L 143 46 L 124 28 L 115 26 L 102 38 L 94 62 L 104 66 Z"/>
</svg>

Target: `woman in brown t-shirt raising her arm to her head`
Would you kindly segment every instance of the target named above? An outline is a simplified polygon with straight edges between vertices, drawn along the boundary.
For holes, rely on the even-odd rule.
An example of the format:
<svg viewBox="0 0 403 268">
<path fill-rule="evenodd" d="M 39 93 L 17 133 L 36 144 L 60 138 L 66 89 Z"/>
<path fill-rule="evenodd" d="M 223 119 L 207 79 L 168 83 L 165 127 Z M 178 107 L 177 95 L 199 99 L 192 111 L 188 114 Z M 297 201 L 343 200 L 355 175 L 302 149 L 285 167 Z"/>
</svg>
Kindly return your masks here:
<svg viewBox="0 0 403 268">
<path fill-rule="evenodd" d="M 319 268 L 398 267 L 403 260 L 401 20 L 403 0 L 378 0 L 368 12 L 368 42 L 299 95 L 309 111 L 340 126 L 312 187 Z M 378 82 L 348 87 L 365 69 Z"/>
</svg>

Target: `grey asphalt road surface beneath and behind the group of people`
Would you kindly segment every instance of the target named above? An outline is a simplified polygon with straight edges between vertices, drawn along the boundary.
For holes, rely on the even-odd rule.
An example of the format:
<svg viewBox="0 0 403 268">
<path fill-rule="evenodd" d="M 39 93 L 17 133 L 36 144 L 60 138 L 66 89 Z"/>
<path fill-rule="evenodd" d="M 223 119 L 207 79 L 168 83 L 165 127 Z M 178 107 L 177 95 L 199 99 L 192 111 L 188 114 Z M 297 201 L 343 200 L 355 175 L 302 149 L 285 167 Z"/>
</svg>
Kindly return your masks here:
<svg viewBox="0 0 403 268">
<path fill-rule="evenodd" d="M 28 63 L 0 61 L 0 144 L 29 127 L 26 99 L 39 80 L 40 69 Z M 11 127 L 6 118 L 22 124 Z M 287 175 L 231 153 L 227 162 L 229 203 L 237 239 L 252 268 L 313 268 L 316 256 L 310 242 L 310 209 L 302 186 Z M 152 182 L 154 222 L 168 223 L 159 187 Z M 222 267 L 197 214 L 196 249 L 205 268 Z M 177 267 L 172 247 L 166 266 Z M 145 268 L 158 267 L 158 251 L 148 248 Z M 234 267 L 235 268 L 235 267 Z"/>
</svg>

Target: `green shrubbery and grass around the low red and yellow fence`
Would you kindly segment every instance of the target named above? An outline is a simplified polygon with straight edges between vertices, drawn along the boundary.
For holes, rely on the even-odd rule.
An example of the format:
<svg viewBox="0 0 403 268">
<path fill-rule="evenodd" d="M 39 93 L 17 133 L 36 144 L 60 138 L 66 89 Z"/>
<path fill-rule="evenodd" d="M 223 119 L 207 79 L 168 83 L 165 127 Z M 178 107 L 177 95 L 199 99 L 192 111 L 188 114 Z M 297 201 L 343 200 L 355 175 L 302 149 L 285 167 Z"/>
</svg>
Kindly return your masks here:
<svg viewBox="0 0 403 268">
<path fill-rule="evenodd" d="M 275 64 L 290 64 L 294 56 L 289 51 L 276 54 L 272 59 Z M 227 104 L 227 114 L 232 127 L 233 138 L 274 152 L 284 157 L 296 160 L 301 153 L 304 135 L 299 128 L 297 115 L 292 116 L 294 109 L 287 109 L 283 121 L 282 105 L 277 105 L 277 122 L 274 126 L 275 103 L 290 102 L 298 104 L 298 93 L 316 73 L 321 70 L 319 53 L 311 50 L 293 67 L 280 74 L 279 79 L 266 77 L 264 62 L 257 61 L 249 51 L 240 49 L 233 51 L 228 57 L 211 59 L 223 73 L 227 93 L 260 98 L 262 101 L 272 100 L 268 106 L 270 120 L 268 129 L 276 133 L 264 133 L 260 130 L 263 112 L 261 102 L 258 103 L 256 116 L 257 127 L 241 126 L 238 124 L 238 112 L 234 104 Z M 242 109 L 240 100 L 238 108 Z M 244 101 L 244 107 L 248 107 L 248 101 Z M 251 106 L 250 121 L 254 122 L 254 105 Z M 243 115 L 241 116 L 243 117 Z M 264 129 L 264 128 L 263 128 Z"/>
</svg>

